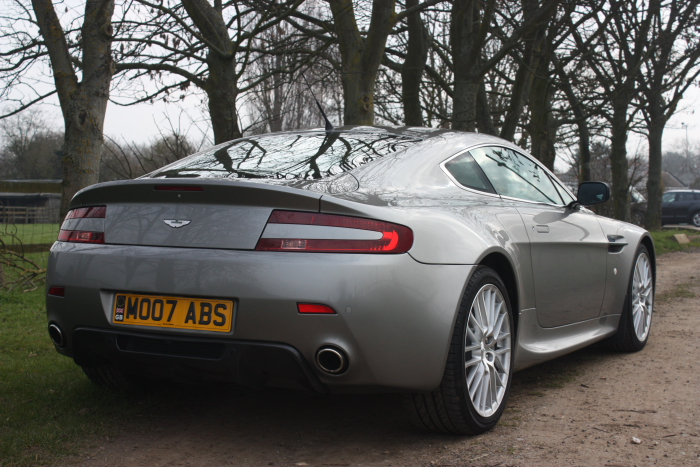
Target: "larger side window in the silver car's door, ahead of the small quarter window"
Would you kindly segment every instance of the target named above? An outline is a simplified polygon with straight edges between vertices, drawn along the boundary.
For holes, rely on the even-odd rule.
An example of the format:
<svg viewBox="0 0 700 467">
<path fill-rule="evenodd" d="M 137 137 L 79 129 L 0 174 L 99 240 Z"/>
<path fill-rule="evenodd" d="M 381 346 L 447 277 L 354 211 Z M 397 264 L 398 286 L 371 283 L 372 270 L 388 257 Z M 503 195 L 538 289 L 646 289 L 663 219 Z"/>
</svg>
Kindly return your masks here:
<svg viewBox="0 0 700 467">
<path fill-rule="evenodd" d="M 470 153 L 498 194 L 528 201 L 563 204 L 547 173 L 527 157 L 500 147 L 478 148 Z"/>
</svg>

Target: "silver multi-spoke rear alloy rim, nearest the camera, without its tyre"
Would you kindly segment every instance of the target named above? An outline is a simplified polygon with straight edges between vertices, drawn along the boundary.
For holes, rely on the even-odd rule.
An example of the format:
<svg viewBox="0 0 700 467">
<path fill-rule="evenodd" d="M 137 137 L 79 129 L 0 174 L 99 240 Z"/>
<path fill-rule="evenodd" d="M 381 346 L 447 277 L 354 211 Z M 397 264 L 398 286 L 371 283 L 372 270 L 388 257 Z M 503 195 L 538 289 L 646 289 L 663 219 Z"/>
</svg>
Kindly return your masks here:
<svg viewBox="0 0 700 467">
<path fill-rule="evenodd" d="M 484 285 L 474 297 L 464 337 L 464 367 L 469 397 L 482 417 L 503 402 L 510 377 L 511 330 L 501 291 Z"/>
</svg>

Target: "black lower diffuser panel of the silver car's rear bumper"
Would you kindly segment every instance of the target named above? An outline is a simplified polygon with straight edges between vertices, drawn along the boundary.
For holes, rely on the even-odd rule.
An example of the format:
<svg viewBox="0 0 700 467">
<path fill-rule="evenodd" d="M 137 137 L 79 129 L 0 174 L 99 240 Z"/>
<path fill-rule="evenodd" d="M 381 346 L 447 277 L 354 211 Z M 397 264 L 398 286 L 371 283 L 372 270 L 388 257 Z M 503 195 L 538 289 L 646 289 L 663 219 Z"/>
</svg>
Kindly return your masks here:
<svg viewBox="0 0 700 467">
<path fill-rule="evenodd" d="M 78 328 L 73 332 L 73 358 L 78 365 L 109 363 L 155 379 L 328 392 L 295 348 L 270 342 Z"/>
</svg>

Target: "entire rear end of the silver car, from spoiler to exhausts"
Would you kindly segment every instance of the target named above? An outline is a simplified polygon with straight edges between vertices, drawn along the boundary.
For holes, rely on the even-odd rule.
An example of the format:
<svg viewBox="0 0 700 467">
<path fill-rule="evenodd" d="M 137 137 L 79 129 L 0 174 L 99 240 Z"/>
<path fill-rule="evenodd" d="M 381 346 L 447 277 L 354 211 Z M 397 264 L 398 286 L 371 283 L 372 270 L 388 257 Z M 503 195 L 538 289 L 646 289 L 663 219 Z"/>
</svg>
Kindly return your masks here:
<svg viewBox="0 0 700 467">
<path fill-rule="evenodd" d="M 332 197 L 213 178 L 80 192 L 49 258 L 58 351 L 150 379 L 433 389 L 470 267 L 415 261 L 395 213 L 322 204 Z"/>
</svg>

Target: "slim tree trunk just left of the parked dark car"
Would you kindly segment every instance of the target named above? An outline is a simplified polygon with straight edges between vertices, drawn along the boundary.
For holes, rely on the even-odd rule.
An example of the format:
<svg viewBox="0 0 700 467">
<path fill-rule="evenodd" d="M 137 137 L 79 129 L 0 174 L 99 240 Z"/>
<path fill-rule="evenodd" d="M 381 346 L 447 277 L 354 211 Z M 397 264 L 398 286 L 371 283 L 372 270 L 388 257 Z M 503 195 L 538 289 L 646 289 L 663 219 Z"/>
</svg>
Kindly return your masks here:
<svg viewBox="0 0 700 467">
<path fill-rule="evenodd" d="M 659 96 L 660 97 L 660 96 Z M 649 175 L 647 177 L 647 214 L 644 227 L 647 230 L 661 229 L 661 197 L 663 181 L 661 179 L 661 142 L 666 126 L 666 118 L 660 103 L 649 102 Z"/>
</svg>

